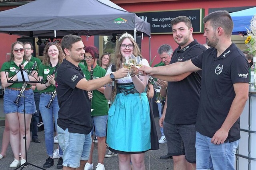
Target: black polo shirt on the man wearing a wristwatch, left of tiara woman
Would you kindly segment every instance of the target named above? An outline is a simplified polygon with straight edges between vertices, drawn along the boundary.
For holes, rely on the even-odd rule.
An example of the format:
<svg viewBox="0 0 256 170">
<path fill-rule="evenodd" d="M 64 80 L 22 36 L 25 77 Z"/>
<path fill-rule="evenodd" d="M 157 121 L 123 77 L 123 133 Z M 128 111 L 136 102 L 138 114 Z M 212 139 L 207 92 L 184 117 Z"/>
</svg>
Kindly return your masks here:
<svg viewBox="0 0 256 170">
<path fill-rule="evenodd" d="M 82 78 L 81 68 L 64 59 L 56 78 L 60 107 L 57 123 L 71 133 L 89 134 L 92 129 L 90 100 L 87 91 L 76 88 Z"/>
</svg>

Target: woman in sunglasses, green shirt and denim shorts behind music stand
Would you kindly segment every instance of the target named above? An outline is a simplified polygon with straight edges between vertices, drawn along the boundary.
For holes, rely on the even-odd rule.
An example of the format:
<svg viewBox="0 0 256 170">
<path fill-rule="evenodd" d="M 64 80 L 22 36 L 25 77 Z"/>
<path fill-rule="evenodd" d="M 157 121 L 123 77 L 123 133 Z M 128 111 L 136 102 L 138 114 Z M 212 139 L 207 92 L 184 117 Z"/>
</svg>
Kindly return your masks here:
<svg viewBox="0 0 256 170">
<path fill-rule="evenodd" d="M 16 168 L 20 164 L 24 164 L 26 160 L 25 154 L 25 136 L 26 131 L 26 147 L 27 150 L 30 145 L 30 121 L 32 114 L 36 111 L 36 106 L 34 102 L 34 94 L 31 89 L 31 85 L 36 85 L 35 83 L 28 83 L 23 95 L 25 98 L 21 97 L 18 103 L 14 103 L 18 97 L 20 90 L 22 89 L 23 82 L 15 82 L 18 80 L 17 75 L 15 75 L 16 70 L 20 69 L 19 65 L 22 65 L 24 69 L 31 69 L 33 66 L 32 62 L 24 56 L 24 45 L 22 42 L 17 41 L 12 43 L 10 61 L 5 62 L 1 68 L 1 81 L 4 87 L 4 113 L 6 114 L 9 127 L 10 127 L 10 144 L 12 147 L 12 152 L 14 154 L 14 161 L 10 164 L 10 168 Z M 34 71 L 32 72 L 32 75 Z M 37 77 L 37 73 L 34 74 Z M 36 81 L 36 79 L 29 76 L 30 81 Z M 15 83 L 7 82 L 8 80 L 13 80 Z M 26 129 L 24 121 L 24 110 L 26 119 Z M 21 152 L 21 159 L 19 158 L 19 153 Z"/>
</svg>

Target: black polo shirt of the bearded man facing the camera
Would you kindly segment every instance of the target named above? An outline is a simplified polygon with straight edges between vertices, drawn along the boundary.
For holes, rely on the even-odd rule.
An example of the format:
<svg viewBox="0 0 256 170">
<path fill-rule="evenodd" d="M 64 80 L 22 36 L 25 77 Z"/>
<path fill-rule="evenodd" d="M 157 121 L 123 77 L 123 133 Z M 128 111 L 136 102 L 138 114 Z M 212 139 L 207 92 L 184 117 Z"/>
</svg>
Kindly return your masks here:
<svg viewBox="0 0 256 170">
<path fill-rule="evenodd" d="M 200 55 L 206 47 L 196 40 L 184 48 L 174 50 L 170 63 L 188 61 Z M 193 72 L 179 82 L 168 82 L 167 108 L 164 121 L 172 124 L 196 123 L 200 100 L 201 71 Z"/>
</svg>

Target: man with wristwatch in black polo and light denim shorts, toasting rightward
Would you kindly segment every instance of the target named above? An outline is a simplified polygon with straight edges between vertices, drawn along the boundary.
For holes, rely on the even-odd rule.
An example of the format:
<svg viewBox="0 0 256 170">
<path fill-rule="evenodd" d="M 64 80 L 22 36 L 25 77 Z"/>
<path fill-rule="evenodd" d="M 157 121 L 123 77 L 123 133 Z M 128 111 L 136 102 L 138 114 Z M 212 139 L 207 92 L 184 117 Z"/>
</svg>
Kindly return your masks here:
<svg viewBox="0 0 256 170">
<path fill-rule="evenodd" d="M 91 107 L 87 91 L 127 76 L 129 69 L 122 68 L 113 74 L 87 81 L 80 61 L 84 59 L 84 43 L 76 35 L 66 35 L 61 41 L 66 59 L 59 66 L 56 78 L 58 94 L 58 142 L 63 150 L 63 170 L 84 169 L 89 159 L 92 138 L 90 131 Z"/>
</svg>

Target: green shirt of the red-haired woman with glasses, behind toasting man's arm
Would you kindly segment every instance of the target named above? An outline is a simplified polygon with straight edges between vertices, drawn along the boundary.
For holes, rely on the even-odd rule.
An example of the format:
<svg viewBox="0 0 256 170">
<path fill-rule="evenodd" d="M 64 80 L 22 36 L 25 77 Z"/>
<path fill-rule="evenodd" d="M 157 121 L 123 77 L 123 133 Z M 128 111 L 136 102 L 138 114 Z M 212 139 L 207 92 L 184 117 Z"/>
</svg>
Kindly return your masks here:
<svg viewBox="0 0 256 170">
<path fill-rule="evenodd" d="M 86 80 L 90 80 L 90 71 L 88 67 L 82 68 L 82 71 L 85 75 Z M 93 79 L 101 78 L 106 75 L 106 70 L 101 68 L 98 64 L 93 69 Z M 103 93 L 98 90 L 93 90 L 92 94 L 92 116 L 103 116 L 108 114 L 108 100 L 106 100 Z"/>
</svg>

